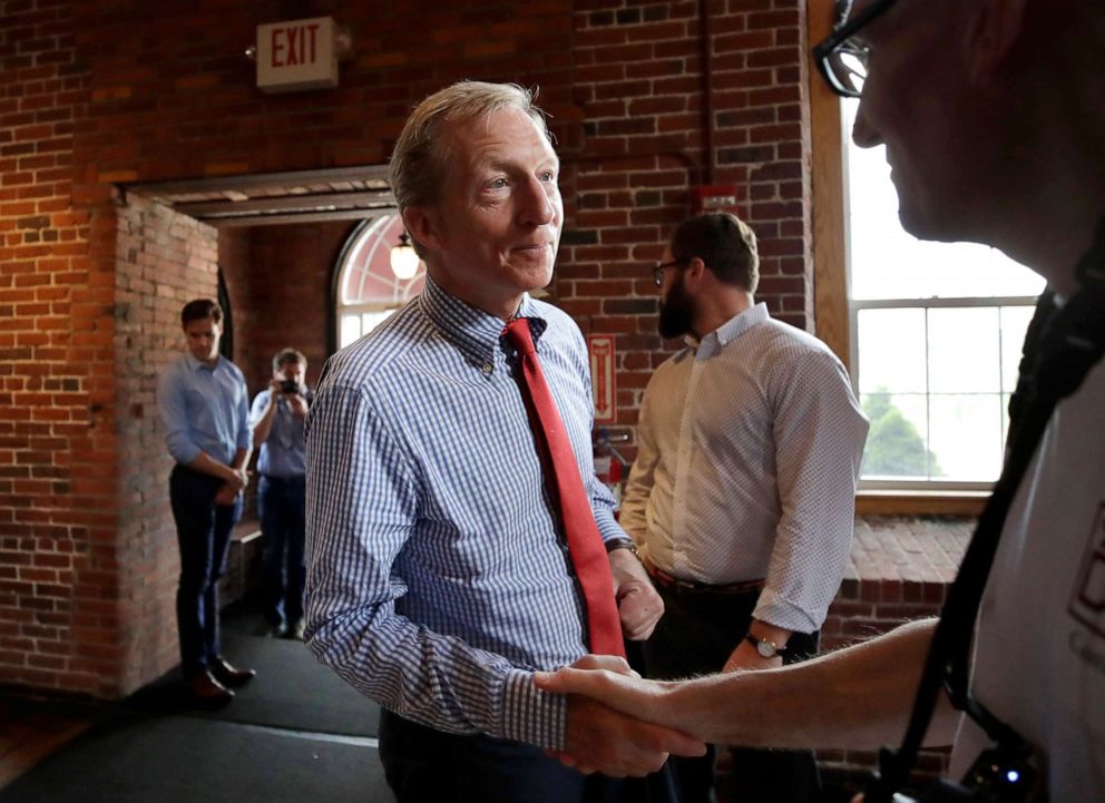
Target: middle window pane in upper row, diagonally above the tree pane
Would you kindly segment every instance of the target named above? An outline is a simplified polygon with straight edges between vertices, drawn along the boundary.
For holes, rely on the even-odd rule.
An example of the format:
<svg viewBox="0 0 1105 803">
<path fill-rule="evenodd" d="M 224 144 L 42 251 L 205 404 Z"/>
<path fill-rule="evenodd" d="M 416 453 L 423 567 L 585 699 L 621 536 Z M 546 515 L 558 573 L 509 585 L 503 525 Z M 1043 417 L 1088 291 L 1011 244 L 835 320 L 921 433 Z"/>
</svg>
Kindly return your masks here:
<svg viewBox="0 0 1105 803">
<path fill-rule="evenodd" d="M 933 393 L 997 393 L 1001 359 L 996 307 L 929 310 Z"/>
</svg>

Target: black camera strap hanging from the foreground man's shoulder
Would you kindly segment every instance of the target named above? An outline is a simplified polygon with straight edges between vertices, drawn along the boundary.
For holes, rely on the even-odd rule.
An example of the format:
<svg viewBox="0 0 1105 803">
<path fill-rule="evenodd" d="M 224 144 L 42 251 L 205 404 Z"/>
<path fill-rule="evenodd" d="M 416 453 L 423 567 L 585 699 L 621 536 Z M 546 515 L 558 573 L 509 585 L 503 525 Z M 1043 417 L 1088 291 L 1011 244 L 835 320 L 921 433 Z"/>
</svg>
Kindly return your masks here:
<svg viewBox="0 0 1105 803">
<path fill-rule="evenodd" d="M 970 646 L 978 608 L 1009 508 L 1044 437 L 1056 404 L 1073 394 L 1105 353 L 1105 219 L 1093 247 L 1076 268 L 1079 290 L 1057 309 L 1037 305 L 1021 362 L 1017 415 L 1001 476 L 971 536 L 940 611 L 906 735 L 898 750 L 879 752 L 879 771 L 864 792 L 867 803 L 890 803 L 909 778 L 941 691 L 999 745 L 1023 750 L 1024 740 L 969 693 Z M 1038 341 L 1033 343 L 1033 335 Z M 1026 370 L 1027 369 L 1027 370 Z"/>
</svg>

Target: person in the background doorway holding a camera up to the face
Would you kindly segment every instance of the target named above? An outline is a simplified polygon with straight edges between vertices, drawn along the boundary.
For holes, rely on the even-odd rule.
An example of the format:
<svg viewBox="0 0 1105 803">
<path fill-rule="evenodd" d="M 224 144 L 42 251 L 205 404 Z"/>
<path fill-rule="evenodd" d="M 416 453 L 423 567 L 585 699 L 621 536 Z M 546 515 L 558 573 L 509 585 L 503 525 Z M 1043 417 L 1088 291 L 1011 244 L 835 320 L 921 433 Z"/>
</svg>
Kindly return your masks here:
<svg viewBox="0 0 1105 803">
<path fill-rule="evenodd" d="M 303 638 L 303 545 L 306 480 L 303 421 L 314 393 L 306 385 L 307 359 L 294 349 L 273 358 L 268 386 L 253 400 L 257 454 L 265 621 L 270 635 Z"/>
</svg>

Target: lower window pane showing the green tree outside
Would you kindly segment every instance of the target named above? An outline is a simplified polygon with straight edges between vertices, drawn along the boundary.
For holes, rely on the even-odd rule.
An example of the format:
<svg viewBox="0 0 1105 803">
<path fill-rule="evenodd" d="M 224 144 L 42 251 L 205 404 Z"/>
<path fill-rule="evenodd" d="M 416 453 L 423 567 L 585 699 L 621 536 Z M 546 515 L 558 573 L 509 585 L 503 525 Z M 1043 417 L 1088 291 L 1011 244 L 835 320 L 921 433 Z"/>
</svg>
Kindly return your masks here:
<svg viewBox="0 0 1105 803">
<path fill-rule="evenodd" d="M 869 393 L 860 396 L 871 421 L 860 476 L 864 479 L 928 479 L 928 414 L 921 393 Z"/>
</svg>

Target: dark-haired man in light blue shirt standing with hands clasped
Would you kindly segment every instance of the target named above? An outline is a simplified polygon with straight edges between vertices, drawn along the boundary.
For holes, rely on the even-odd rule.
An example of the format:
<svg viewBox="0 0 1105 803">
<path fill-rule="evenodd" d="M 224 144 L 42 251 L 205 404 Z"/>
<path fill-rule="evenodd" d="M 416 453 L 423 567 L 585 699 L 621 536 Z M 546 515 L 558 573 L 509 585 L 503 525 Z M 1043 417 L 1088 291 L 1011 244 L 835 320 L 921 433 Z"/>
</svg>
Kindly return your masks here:
<svg viewBox="0 0 1105 803">
<path fill-rule="evenodd" d="M 250 398 L 238 366 L 218 353 L 223 311 L 209 298 L 180 311 L 187 352 L 158 378 L 165 441 L 176 460 L 169 501 L 180 548 L 176 595 L 180 665 L 202 705 L 225 705 L 254 676 L 219 655 L 218 579 L 242 515 L 253 451 Z"/>
</svg>

